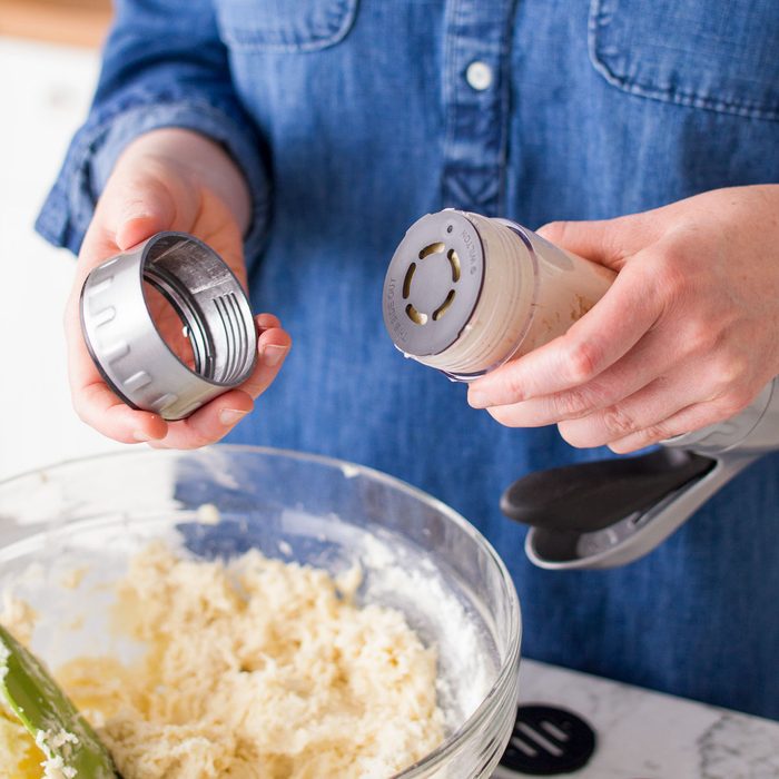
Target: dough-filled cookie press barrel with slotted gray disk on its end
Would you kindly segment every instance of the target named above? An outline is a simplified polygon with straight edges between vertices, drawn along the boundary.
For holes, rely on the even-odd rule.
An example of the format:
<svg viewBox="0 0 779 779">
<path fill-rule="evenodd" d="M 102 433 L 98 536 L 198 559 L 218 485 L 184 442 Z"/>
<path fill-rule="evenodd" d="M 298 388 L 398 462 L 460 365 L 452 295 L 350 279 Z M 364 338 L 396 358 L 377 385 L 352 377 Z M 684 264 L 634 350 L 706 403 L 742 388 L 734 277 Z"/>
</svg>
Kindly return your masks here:
<svg viewBox="0 0 779 779">
<path fill-rule="evenodd" d="M 393 255 L 384 322 L 406 356 L 469 381 L 562 335 L 613 279 L 512 221 L 447 209 Z"/>
</svg>

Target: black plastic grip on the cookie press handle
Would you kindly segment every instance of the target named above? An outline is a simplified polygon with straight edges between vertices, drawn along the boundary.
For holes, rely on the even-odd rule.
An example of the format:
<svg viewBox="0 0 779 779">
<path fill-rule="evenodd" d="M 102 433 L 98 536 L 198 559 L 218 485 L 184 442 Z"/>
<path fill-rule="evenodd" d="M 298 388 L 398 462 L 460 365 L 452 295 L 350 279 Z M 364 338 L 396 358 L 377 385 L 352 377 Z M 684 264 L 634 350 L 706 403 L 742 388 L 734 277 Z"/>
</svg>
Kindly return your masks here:
<svg viewBox="0 0 779 779">
<path fill-rule="evenodd" d="M 503 493 L 501 511 L 538 527 L 593 532 L 650 509 L 716 464 L 687 450 L 661 447 L 639 457 L 536 471 Z"/>
</svg>

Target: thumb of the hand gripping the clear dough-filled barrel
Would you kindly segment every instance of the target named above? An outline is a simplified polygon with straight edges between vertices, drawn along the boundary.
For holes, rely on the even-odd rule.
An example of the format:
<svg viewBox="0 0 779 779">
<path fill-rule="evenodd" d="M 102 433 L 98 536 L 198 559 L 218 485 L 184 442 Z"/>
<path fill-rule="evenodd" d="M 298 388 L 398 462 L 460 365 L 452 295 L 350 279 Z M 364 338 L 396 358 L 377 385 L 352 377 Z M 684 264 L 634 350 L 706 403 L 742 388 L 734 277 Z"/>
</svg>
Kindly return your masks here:
<svg viewBox="0 0 779 779">
<path fill-rule="evenodd" d="M 536 233 L 561 248 L 620 270 L 631 255 L 648 243 L 635 217 L 594 221 L 550 221 Z"/>
</svg>

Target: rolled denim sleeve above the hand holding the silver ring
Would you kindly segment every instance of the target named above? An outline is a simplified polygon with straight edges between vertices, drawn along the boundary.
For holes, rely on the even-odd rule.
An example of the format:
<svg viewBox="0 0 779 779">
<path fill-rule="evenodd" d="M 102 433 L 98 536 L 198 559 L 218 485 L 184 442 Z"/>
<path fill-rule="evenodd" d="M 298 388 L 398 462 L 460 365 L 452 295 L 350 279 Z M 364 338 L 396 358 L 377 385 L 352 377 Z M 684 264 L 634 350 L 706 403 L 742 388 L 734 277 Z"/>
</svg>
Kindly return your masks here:
<svg viewBox="0 0 779 779">
<path fill-rule="evenodd" d="M 78 253 L 95 204 L 122 149 L 160 127 L 221 144 L 252 193 L 247 263 L 267 233 L 270 187 L 257 129 L 230 79 L 211 0 L 120 0 L 95 99 L 36 221 L 56 246 Z"/>
</svg>

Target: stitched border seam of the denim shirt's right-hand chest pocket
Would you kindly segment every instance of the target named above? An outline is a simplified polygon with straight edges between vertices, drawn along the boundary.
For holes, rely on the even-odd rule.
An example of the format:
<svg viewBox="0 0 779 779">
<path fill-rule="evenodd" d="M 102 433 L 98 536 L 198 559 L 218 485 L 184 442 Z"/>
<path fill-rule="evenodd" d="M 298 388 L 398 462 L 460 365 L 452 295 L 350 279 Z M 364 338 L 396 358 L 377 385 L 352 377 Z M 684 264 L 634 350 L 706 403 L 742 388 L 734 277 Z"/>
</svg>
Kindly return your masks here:
<svg viewBox="0 0 779 779">
<path fill-rule="evenodd" d="M 588 28 L 588 49 L 590 60 L 594 69 L 612 86 L 622 89 L 630 95 L 637 95 L 653 100 L 671 102 L 692 108 L 702 108 L 721 114 L 731 114 L 746 118 L 779 120 L 779 107 L 770 108 L 763 102 L 751 99 L 724 99 L 704 95 L 679 87 L 663 87 L 642 80 L 640 76 L 618 73 L 609 60 L 619 51 L 619 41 L 611 41 L 607 46 L 609 37 L 608 26 L 613 14 L 608 6 L 613 0 L 591 0 Z M 610 48 L 610 51 L 607 49 Z M 612 59 L 613 61 L 613 59 Z"/>
</svg>

